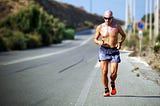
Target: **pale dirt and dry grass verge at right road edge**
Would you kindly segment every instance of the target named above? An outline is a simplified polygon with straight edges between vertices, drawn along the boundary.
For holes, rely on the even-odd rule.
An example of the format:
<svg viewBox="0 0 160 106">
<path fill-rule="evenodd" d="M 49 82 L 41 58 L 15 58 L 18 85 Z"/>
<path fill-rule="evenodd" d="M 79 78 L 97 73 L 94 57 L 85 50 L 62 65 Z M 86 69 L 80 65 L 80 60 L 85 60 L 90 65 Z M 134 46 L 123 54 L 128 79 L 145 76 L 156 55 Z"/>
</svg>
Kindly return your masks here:
<svg viewBox="0 0 160 106">
<path fill-rule="evenodd" d="M 143 51 L 141 56 L 138 52 L 133 52 L 129 57 L 135 60 L 132 62 L 135 66 L 132 72 L 136 72 L 137 77 L 142 75 L 160 85 L 160 54 Z"/>
</svg>

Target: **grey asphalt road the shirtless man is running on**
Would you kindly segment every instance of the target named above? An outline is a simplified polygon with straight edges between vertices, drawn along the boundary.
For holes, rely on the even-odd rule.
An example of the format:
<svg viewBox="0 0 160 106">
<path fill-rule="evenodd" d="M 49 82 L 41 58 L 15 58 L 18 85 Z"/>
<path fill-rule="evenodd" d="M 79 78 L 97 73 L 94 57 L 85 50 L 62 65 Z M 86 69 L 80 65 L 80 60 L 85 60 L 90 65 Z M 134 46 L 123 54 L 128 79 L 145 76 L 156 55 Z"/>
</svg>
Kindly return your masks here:
<svg viewBox="0 0 160 106">
<path fill-rule="evenodd" d="M 160 106 L 160 85 L 137 77 L 128 54 L 121 51 L 117 95 L 104 98 L 92 34 L 0 53 L 0 106 Z"/>
</svg>

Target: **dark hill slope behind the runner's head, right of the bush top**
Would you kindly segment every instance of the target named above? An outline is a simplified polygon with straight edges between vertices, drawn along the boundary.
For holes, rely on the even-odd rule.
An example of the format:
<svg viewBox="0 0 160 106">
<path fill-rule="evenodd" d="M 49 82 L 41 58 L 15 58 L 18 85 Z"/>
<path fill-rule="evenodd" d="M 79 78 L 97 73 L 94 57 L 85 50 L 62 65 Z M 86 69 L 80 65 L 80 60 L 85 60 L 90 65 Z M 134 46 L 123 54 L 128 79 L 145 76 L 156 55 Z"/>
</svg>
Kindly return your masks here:
<svg viewBox="0 0 160 106">
<path fill-rule="evenodd" d="M 66 4 L 59 3 L 53 0 L 35 0 L 49 14 L 58 17 L 62 22 L 65 22 L 69 27 L 85 28 L 86 26 L 97 25 L 103 22 L 102 16 L 87 13 L 85 10 Z M 121 25 L 123 21 L 115 19 Z"/>
</svg>

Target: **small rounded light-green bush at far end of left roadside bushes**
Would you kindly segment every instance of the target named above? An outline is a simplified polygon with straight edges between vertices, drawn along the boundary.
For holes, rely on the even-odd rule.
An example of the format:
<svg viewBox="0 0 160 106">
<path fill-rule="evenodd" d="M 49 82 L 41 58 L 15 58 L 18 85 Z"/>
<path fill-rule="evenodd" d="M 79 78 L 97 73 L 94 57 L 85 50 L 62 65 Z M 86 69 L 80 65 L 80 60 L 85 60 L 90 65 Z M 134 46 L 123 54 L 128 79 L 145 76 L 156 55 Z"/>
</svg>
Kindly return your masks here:
<svg viewBox="0 0 160 106">
<path fill-rule="evenodd" d="M 74 29 L 66 29 L 64 31 L 64 39 L 74 39 L 75 30 Z"/>
</svg>

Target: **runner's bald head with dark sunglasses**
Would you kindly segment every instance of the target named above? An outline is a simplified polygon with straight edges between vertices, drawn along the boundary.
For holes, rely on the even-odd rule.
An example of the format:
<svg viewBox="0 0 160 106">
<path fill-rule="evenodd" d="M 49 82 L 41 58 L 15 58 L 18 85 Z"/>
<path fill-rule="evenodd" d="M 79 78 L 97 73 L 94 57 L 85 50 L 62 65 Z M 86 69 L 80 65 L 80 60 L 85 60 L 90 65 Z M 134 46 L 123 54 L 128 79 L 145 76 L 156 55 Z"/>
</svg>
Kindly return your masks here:
<svg viewBox="0 0 160 106">
<path fill-rule="evenodd" d="M 112 19 L 113 19 L 113 13 L 111 10 L 107 10 L 104 12 L 104 16 L 103 16 L 104 20 L 105 20 L 105 23 L 107 25 L 110 25 L 111 22 L 112 22 Z"/>
</svg>

